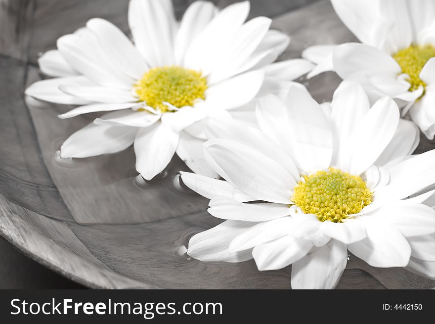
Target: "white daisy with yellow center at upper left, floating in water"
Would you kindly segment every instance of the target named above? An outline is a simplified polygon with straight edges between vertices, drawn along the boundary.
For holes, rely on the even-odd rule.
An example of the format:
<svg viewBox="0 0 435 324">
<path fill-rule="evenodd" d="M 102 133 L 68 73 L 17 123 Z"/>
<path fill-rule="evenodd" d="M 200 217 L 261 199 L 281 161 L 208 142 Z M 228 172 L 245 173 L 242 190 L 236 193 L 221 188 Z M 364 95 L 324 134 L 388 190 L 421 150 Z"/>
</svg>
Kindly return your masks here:
<svg viewBox="0 0 435 324">
<path fill-rule="evenodd" d="M 39 59 L 41 70 L 57 78 L 34 83 L 26 94 L 80 105 L 60 118 L 111 111 L 66 139 L 60 157 L 114 153 L 134 143 L 136 169 L 146 180 L 175 152 L 193 171 L 216 175 L 202 157 L 203 118 L 254 115 L 249 103 L 259 91 L 279 93 L 313 66 L 304 59 L 270 64 L 290 39 L 269 30 L 269 18 L 245 23 L 249 10 L 248 1 L 221 11 L 195 1 L 178 23 L 171 0 L 131 0 L 134 44 L 100 18 L 59 38 L 57 50 Z"/>
</svg>

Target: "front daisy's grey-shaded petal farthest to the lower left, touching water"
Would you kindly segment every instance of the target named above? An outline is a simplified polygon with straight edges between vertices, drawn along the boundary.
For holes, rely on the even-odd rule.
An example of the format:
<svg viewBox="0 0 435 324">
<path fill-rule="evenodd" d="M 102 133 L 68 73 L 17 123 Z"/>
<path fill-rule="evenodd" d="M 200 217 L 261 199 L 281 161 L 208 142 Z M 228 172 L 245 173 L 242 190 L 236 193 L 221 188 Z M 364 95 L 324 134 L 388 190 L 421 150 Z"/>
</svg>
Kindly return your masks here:
<svg viewBox="0 0 435 324">
<path fill-rule="evenodd" d="M 193 235 L 187 255 L 206 262 L 242 262 L 252 259 L 251 250 L 230 252 L 229 243 L 237 235 L 256 225 L 253 222 L 225 221 L 214 228 Z"/>
</svg>

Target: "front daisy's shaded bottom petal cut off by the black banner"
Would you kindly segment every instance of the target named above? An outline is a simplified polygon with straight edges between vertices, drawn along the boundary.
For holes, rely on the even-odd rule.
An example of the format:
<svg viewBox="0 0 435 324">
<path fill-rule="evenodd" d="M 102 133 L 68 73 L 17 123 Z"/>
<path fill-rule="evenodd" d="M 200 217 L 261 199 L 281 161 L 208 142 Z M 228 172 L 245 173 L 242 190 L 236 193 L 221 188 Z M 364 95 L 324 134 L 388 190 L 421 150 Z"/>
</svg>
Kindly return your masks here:
<svg viewBox="0 0 435 324">
<path fill-rule="evenodd" d="M 348 262 L 346 245 L 330 240 L 292 265 L 292 289 L 332 289 Z"/>
</svg>

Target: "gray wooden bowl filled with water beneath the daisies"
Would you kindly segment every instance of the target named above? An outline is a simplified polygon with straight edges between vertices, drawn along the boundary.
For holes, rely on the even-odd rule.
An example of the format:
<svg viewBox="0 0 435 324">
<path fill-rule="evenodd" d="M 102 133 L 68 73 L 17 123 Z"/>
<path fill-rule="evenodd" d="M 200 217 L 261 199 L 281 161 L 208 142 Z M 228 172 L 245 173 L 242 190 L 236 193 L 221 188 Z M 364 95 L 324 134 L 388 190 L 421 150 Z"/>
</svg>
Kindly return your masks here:
<svg viewBox="0 0 435 324">
<path fill-rule="evenodd" d="M 178 11 L 186 1 L 175 1 Z M 228 1 L 217 1 L 226 4 Z M 265 1 L 264 1 L 265 2 Z M 266 5 L 256 1 L 257 8 Z M 269 1 L 267 1 L 269 2 Z M 286 1 L 276 1 L 289 8 Z M 301 1 L 296 1 L 301 2 Z M 187 170 L 174 158 L 152 182 L 136 178 L 132 149 L 61 161 L 60 144 L 95 116 L 60 120 L 71 107 L 28 98 L 43 78 L 36 59 L 63 34 L 99 16 L 127 31 L 128 1 L 0 0 L 0 233 L 25 254 L 93 288 L 289 288 L 290 267 L 259 272 L 253 261 L 203 263 L 184 251 L 189 238 L 217 225 L 208 201 L 183 189 Z M 268 9 L 270 10 L 270 8 Z M 252 15 L 265 14 L 261 10 Z M 281 15 L 273 26 L 292 35 L 283 58 L 313 44 L 353 41 L 329 1 Z M 305 83 L 318 101 L 339 83 L 332 73 Z M 26 105 L 27 103 L 27 105 Z M 434 147 L 428 141 L 419 150 Z M 403 269 L 376 269 L 350 256 L 338 288 L 432 288 Z"/>
</svg>

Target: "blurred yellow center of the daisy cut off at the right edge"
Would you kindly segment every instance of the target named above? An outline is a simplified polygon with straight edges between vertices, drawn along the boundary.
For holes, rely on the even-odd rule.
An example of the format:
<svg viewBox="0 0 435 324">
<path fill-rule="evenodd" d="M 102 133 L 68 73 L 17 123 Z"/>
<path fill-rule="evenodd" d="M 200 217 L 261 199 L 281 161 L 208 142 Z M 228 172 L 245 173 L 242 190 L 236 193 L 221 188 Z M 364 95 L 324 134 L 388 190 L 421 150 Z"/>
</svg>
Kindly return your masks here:
<svg viewBox="0 0 435 324">
<path fill-rule="evenodd" d="M 435 47 L 432 45 L 418 46 L 411 45 L 400 49 L 392 57 L 400 65 L 402 73 L 409 75 L 406 80 L 411 84 L 408 91 L 415 91 L 420 86 L 426 87 L 426 84 L 420 79 L 420 72 L 426 62 L 435 57 Z"/>
</svg>

